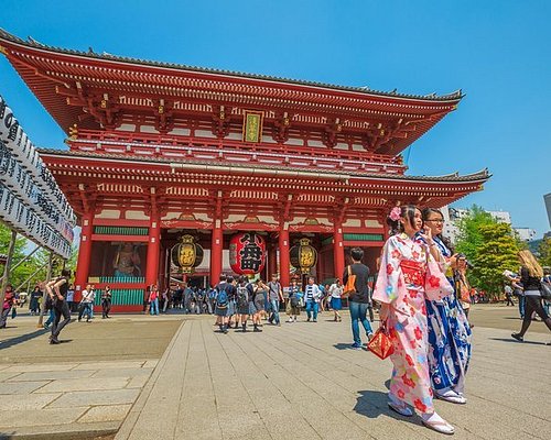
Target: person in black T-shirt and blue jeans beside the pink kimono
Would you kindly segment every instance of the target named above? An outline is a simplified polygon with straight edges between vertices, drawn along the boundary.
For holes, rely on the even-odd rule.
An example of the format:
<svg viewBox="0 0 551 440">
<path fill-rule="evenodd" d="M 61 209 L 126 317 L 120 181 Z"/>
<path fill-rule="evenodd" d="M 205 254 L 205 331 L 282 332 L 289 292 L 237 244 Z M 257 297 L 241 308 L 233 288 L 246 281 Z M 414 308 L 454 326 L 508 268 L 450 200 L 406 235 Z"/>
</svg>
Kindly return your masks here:
<svg viewBox="0 0 551 440">
<path fill-rule="evenodd" d="M 343 274 L 343 283 L 348 283 L 349 275 L 356 275 L 354 283 L 354 292 L 348 296 L 348 309 L 350 311 L 352 320 L 352 336 L 354 343 L 353 349 L 361 349 L 361 339 L 359 337 L 359 323 L 364 327 L 368 341 L 371 340 L 374 331 L 371 324 L 367 319 L 367 310 L 369 308 L 369 286 L 368 276 L 369 267 L 361 263 L 364 258 L 364 251 L 361 248 L 353 248 L 350 250 L 352 264 L 345 268 Z"/>
</svg>

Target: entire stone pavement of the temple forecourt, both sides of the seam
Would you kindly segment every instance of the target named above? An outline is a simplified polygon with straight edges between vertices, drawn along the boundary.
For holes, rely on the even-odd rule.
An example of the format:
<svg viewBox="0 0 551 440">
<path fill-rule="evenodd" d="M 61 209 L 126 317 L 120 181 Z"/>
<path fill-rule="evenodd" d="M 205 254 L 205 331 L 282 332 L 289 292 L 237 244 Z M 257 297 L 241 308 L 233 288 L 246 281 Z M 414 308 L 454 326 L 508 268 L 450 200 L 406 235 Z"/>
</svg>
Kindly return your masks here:
<svg viewBox="0 0 551 440">
<path fill-rule="evenodd" d="M 115 316 L 71 323 L 62 333 L 71 342 L 55 346 L 34 317 L 18 317 L 0 332 L 0 439 L 119 427 L 119 440 L 441 438 L 387 409 L 390 362 L 349 350 L 344 316 L 227 336 L 213 331 L 213 317 Z M 437 402 L 437 410 L 458 439 L 549 438 L 547 328 L 534 322 L 520 344 L 509 337 L 520 326 L 512 307 L 471 316 L 468 404 Z"/>
</svg>

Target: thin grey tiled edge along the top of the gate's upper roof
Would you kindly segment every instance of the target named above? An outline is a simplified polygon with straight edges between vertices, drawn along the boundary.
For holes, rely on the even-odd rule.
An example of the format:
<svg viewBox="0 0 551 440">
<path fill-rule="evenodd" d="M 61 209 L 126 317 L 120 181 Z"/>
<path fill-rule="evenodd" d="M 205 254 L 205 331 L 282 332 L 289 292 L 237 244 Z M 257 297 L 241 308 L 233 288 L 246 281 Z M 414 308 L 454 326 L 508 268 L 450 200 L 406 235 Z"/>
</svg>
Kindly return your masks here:
<svg viewBox="0 0 551 440">
<path fill-rule="evenodd" d="M 4 31 L 3 29 L 0 29 L 0 41 L 1 40 L 6 40 L 6 41 L 12 42 L 12 43 L 21 44 L 21 45 L 24 45 L 28 47 L 35 47 L 35 48 L 40 48 L 40 50 L 44 50 L 44 51 L 57 52 L 57 53 L 63 53 L 63 54 L 67 54 L 67 55 L 84 56 L 84 57 L 94 58 L 94 59 L 107 59 L 107 61 L 143 65 L 143 66 L 154 66 L 154 67 L 161 67 L 161 68 L 164 67 L 164 68 L 187 70 L 187 72 L 226 75 L 226 76 L 238 77 L 238 78 L 250 78 L 250 79 L 259 79 L 259 80 L 278 81 L 278 82 L 289 84 L 289 85 L 321 87 L 321 88 L 325 88 L 325 89 L 360 92 L 360 94 L 365 94 L 367 96 L 379 96 L 379 97 L 388 97 L 388 98 L 408 98 L 408 99 L 418 99 L 418 100 L 436 101 L 436 102 L 460 100 L 461 98 L 464 97 L 461 89 L 456 90 L 454 92 L 451 92 L 451 94 L 442 95 L 442 96 L 436 96 L 436 94 L 409 95 L 409 94 L 399 94 L 396 89 L 392 91 L 380 91 L 380 90 L 371 90 L 368 87 L 337 86 L 337 85 L 333 85 L 333 84 L 296 80 L 296 79 L 290 79 L 290 78 L 273 77 L 273 76 L 268 76 L 268 75 L 256 75 L 256 74 L 246 74 L 246 73 L 234 72 L 234 70 L 195 67 L 195 66 L 187 66 L 187 65 L 175 64 L 175 63 L 152 62 L 152 61 L 140 59 L 140 58 L 131 58 L 131 57 L 111 55 L 111 54 L 108 54 L 105 52 L 102 54 L 98 54 L 98 53 L 94 52 L 91 48 L 88 52 L 74 51 L 74 50 L 67 50 L 67 48 L 63 48 L 63 47 L 48 46 L 46 44 L 39 43 L 37 41 L 33 40 L 32 37 L 29 37 L 28 40 L 22 40 L 15 35 L 10 34 L 9 32 Z"/>
</svg>

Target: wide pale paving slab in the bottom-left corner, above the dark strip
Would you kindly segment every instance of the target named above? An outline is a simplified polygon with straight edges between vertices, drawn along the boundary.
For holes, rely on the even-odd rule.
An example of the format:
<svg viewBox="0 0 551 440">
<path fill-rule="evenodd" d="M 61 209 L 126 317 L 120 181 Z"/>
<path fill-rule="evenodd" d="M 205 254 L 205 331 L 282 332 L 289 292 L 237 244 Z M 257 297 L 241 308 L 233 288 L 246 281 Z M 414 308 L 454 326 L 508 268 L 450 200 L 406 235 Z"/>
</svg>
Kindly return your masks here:
<svg viewBox="0 0 551 440">
<path fill-rule="evenodd" d="M 15 428 L 44 426 L 55 424 L 72 424 L 88 410 L 88 407 L 35 409 L 24 414 L 14 410 L 0 411 L 0 427 Z"/>
</svg>

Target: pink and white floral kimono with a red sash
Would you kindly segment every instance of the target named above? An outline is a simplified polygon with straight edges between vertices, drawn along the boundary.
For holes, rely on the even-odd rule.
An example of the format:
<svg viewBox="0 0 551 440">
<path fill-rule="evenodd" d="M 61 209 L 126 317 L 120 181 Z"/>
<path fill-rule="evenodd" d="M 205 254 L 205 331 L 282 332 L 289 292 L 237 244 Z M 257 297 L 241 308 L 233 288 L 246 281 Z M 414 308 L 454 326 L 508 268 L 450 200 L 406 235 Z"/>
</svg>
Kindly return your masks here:
<svg viewBox="0 0 551 440">
<path fill-rule="evenodd" d="M 426 245 L 404 233 L 388 239 L 374 299 L 390 306 L 387 329 L 395 348 L 390 393 L 420 413 L 434 411 L 425 299 L 440 300 L 452 292 Z"/>
</svg>

